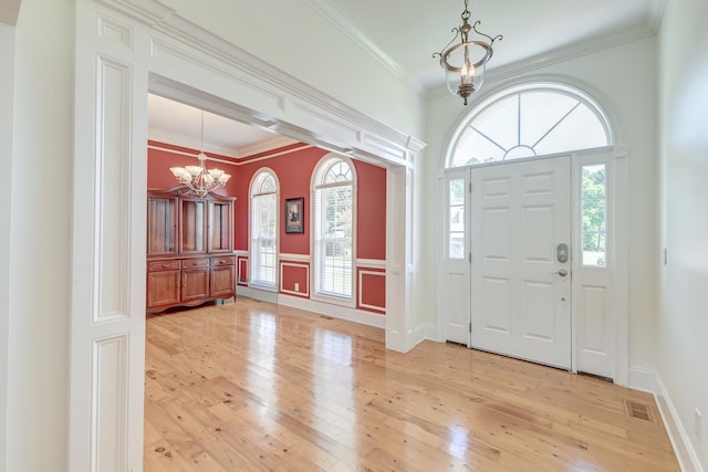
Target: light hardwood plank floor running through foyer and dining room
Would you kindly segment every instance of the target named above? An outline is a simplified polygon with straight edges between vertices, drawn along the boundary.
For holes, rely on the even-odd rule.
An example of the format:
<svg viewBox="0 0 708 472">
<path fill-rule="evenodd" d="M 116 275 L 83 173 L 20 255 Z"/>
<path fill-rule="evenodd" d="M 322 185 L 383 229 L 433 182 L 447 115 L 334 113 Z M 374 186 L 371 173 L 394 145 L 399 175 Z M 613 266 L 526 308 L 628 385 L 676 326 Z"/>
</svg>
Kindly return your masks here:
<svg viewBox="0 0 708 472">
<path fill-rule="evenodd" d="M 652 396 L 240 297 L 147 319 L 145 471 L 678 471 Z"/>
</svg>

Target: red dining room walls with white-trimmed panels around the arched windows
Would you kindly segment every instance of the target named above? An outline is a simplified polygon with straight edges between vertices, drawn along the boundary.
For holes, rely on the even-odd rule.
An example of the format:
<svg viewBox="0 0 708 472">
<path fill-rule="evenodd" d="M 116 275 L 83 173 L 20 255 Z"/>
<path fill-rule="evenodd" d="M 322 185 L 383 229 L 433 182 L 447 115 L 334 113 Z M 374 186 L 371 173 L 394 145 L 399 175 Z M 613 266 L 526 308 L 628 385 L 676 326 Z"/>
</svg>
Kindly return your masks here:
<svg viewBox="0 0 708 472">
<path fill-rule="evenodd" d="M 195 149 L 186 149 L 164 143 L 149 141 L 147 159 L 147 187 L 149 189 L 168 189 L 177 186 L 175 177 L 169 171 L 170 167 L 196 165 L 194 157 Z M 304 145 L 301 145 L 304 146 Z M 298 147 L 301 147 L 298 146 Z M 155 149 L 155 147 L 163 149 Z M 290 149 L 290 150 L 288 150 Z M 304 198 L 304 232 L 285 233 L 284 217 L 280 221 L 280 253 L 284 254 L 310 254 L 310 197 L 312 172 L 320 159 L 329 151 L 316 147 L 282 148 L 280 156 L 268 157 L 258 160 L 263 156 L 251 156 L 239 159 L 239 165 L 207 161 L 207 167 L 217 167 L 231 175 L 231 179 L 223 189 L 217 193 L 236 197 L 235 202 L 235 249 L 247 251 L 249 242 L 249 190 L 253 175 L 267 167 L 278 176 L 280 185 L 280 211 L 284 208 L 284 201 L 289 198 Z M 184 156 L 179 153 L 187 153 Z M 209 154 L 210 157 L 225 158 Z M 357 259 L 368 259 L 384 261 L 386 259 L 386 169 L 371 164 L 354 160 L 357 176 Z M 246 285 L 246 271 L 248 269 L 248 256 L 239 255 L 239 285 Z M 309 263 L 285 260 L 281 261 L 282 277 L 280 290 L 284 293 L 304 296 L 310 295 L 309 286 Z M 361 271 L 374 271 L 372 273 L 361 273 Z M 381 273 L 383 276 L 378 276 Z M 385 272 L 382 269 L 366 269 L 358 266 L 355 296 L 357 307 L 374 313 L 385 313 Z M 295 284 L 298 284 L 295 286 Z M 360 286 L 361 284 L 361 286 Z"/>
</svg>

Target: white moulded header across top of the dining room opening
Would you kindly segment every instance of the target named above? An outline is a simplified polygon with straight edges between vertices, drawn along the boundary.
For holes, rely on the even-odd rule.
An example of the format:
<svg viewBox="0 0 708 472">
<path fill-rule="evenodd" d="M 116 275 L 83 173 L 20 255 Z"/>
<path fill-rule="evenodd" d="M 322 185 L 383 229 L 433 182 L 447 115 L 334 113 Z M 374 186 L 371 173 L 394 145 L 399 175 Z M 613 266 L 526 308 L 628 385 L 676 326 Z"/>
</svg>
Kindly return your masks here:
<svg viewBox="0 0 708 472">
<path fill-rule="evenodd" d="M 215 35 L 158 0 L 100 2 L 150 25 L 150 61 L 181 72 L 201 69 L 231 84 L 227 99 L 188 85 L 191 80 L 187 77 L 194 74 L 179 83 L 152 73 L 152 93 L 378 165 L 412 166 L 414 156 L 426 146 Z"/>
</svg>

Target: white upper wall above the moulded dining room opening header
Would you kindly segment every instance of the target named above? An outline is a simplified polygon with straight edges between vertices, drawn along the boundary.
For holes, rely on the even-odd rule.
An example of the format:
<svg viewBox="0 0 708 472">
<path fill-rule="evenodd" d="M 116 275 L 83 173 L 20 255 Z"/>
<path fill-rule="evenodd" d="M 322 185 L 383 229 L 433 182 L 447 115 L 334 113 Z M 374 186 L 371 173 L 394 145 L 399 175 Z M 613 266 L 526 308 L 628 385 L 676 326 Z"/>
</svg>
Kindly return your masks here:
<svg viewBox="0 0 708 472">
<path fill-rule="evenodd" d="M 420 137 L 424 101 L 308 6 L 283 0 L 163 0 L 178 14 L 396 129 Z M 427 54 L 427 53 L 426 53 Z"/>
</svg>

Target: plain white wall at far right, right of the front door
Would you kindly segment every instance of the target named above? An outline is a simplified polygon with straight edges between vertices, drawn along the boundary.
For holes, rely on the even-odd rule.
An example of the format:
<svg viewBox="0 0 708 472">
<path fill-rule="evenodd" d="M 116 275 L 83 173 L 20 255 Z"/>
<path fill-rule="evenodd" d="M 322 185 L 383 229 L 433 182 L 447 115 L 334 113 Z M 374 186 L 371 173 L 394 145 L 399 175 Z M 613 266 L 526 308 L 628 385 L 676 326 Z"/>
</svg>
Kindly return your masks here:
<svg viewBox="0 0 708 472">
<path fill-rule="evenodd" d="M 708 468 L 708 2 L 668 1 L 659 35 L 662 247 L 657 364 L 666 394 Z M 702 439 L 694 410 L 702 413 Z"/>
</svg>

